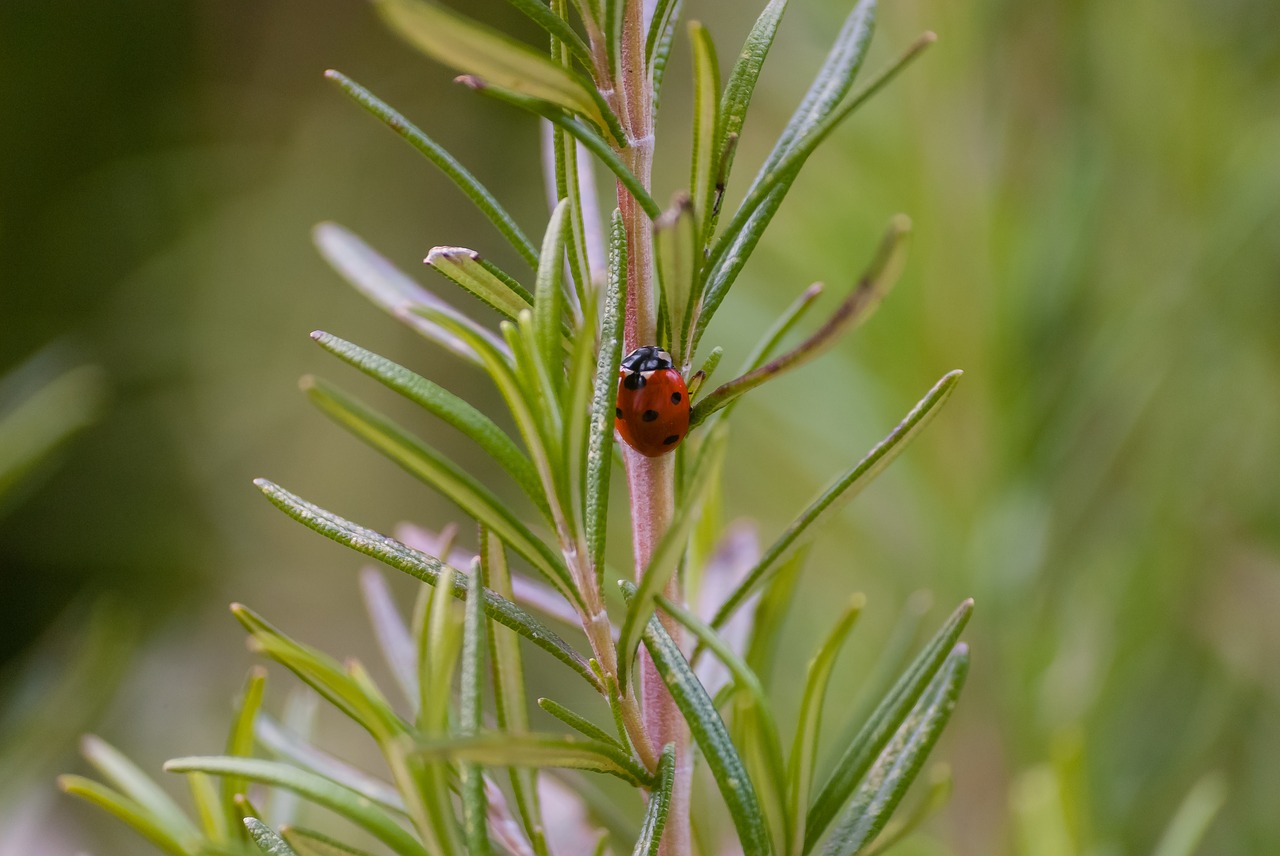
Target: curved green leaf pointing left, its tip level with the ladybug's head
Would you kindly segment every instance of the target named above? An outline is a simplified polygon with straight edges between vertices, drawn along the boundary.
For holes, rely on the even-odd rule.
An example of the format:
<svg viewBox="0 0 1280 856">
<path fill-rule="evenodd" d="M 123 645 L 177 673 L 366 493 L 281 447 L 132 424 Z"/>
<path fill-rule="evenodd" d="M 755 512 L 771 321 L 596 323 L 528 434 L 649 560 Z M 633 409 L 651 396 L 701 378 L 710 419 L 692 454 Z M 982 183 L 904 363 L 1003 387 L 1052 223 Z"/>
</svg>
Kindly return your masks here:
<svg viewBox="0 0 1280 856">
<path fill-rule="evenodd" d="M 339 339 L 321 330 L 312 333 L 311 338 L 316 344 L 347 365 L 355 366 L 388 389 L 396 390 L 415 404 L 420 404 L 431 415 L 466 434 L 516 480 L 516 484 L 525 491 L 525 495 L 544 514 L 550 514 L 547 508 L 547 496 L 543 493 L 541 484 L 538 481 L 538 471 L 534 468 L 534 464 L 506 431 L 472 407 L 466 399 L 346 339 Z"/>
</svg>

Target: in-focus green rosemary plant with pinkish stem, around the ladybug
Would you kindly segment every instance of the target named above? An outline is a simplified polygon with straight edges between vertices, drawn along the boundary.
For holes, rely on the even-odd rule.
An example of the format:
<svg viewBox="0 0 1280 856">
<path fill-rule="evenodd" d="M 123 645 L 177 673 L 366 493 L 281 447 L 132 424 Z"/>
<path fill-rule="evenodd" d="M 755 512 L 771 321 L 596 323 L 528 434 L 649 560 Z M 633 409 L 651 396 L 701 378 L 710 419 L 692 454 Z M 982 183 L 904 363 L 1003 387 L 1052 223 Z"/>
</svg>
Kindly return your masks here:
<svg viewBox="0 0 1280 856">
<path fill-rule="evenodd" d="M 707 28 L 696 22 L 680 27 L 681 0 L 512 5 L 547 31 L 549 50 L 535 50 L 443 5 L 375 0 L 396 32 L 456 69 L 460 82 L 545 120 L 547 174 L 557 202 L 540 242 L 408 119 L 344 74 L 326 74 L 442 169 L 529 266 L 527 275 L 511 274 L 460 247 L 436 247 L 426 256 L 436 273 L 488 305 L 485 313 L 499 316 L 497 328 L 434 297 L 339 225 L 320 225 L 315 238 L 333 266 L 375 303 L 434 345 L 483 369 L 509 407 L 518 438 L 410 369 L 329 333 L 312 338 L 475 441 L 527 496 L 534 519 L 513 512 L 422 439 L 335 385 L 308 377 L 303 389 L 321 411 L 475 521 L 479 554 L 451 562 L 448 535 L 406 544 L 270 481 L 257 482 L 302 525 L 428 583 L 406 619 L 381 577 L 365 578 L 375 632 L 403 696 L 394 702 L 360 663 L 342 664 L 248 608 L 233 606 L 256 650 L 369 733 L 385 759 L 385 778 L 357 772 L 308 742 L 298 724 L 306 717 L 297 710 L 284 722 L 264 713 L 265 673 L 253 672 L 225 755 L 166 765 L 187 777 L 198 821 L 95 738 L 86 741 L 84 754 L 109 784 L 64 777 L 63 787 L 116 814 L 161 850 L 188 856 L 255 850 L 330 856 L 360 853 L 358 847 L 367 846 L 402 856 L 547 856 L 556 842 L 544 816 L 557 806 L 539 779 L 566 768 L 616 777 L 641 795 L 634 805 L 618 806 L 617 814 L 637 818 L 631 841 L 618 830 L 600 832 L 595 852 L 634 847 L 635 853 L 804 856 L 883 850 L 946 791 L 945 775 L 931 777 L 919 807 L 890 825 L 964 683 L 968 650 L 957 640 L 972 603 L 959 605 L 829 759 L 818 757 L 823 700 L 861 596 L 850 599 L 809 663 L 799 724 L 788 741 L 762 676 L 819 525 L 902 452 L 951 394 L 960 372 L 943 376 L 768 549 L 740 563 L 714 610 L 692 610 L 689 604 L 698 592 L 682 581 L 707 578 L 716 564 L 698 545 L 722 535 L 713 531 L 717 516 L 707 512 L 717 502 L 735 402 L 814 358 L 874 310 L 901 269 L 909 220 L 897 216 L 890 223 L 849 294 L 800 344 L 782 351 L 820 285 L 803 292 L 742 371 L 714 388 L 709 381 L 721 349 L 705 347 L 708 324 L 809 155 L 933 35 L 922 36 L 855 91 L 874 19 L 874 3 L 860 0 L 742 202 L 722 224 L 736 143 L 786 1 L 771 0 L 760 13 L 723 87 Z M 664 209 L 650 182 L 654 119 L 681 29 L 694 59 L 692 162 L 689 187 Z M 595 196 L 593 169 L 602 165 L 617 186 L 609 218 L 600 216 Z M 614 438 L 620 362 L 641 345 L 669 352 L 694 400 L 687 440 L 657 457 Z M 630 498 L 625 512 L 609 508 L 609 482 L 620 464 Z M 611 511 L 628 513 L 634 534 L 635 572 L 621 575 L 630 577 L 623 581 L 607 564 Z M 613 554 L 617 558 L 617 550 Z M 607 590 L 616 583 L 623 600 L 611 609 Z M 564 621 L 581 628 L 585 642 L 571 644 L 548 624 Z M 748 645 L 732 641 L 744 635 L 728 633 L 731 622 L 749 628 Z M 568 731 L 531 731 L 520 637 L 598 694 L 599 710 L 579 713 L 539 699 Z M 717 664 L 727 673 L 718 682 L 709 668 Z M 694 777 L 700 764 L 709 777 Z M 815 779 L 819 769 L 829 770 L 823 781 Z M 704 782 L 707 787 L 699 784 Z M 251 791 L 251 783 L 265 788 Z M 365 836 L 355 844 L 340 843 L 296 825 L 288 810 L 297 797 L 346 818 Z M 731 844 L 694 823 L 722 810 L 736 833 Z"/>
</svg>

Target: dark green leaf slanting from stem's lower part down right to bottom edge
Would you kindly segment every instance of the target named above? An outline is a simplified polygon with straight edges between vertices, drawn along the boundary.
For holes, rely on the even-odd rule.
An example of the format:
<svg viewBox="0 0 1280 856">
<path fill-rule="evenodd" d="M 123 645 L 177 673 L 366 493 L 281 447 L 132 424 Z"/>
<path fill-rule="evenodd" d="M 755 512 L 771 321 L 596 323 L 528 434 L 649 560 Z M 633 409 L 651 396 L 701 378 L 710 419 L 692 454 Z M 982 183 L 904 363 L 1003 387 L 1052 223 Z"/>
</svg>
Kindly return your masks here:
<svg viewBox="0 0 1280 856">
<path fill-rule="evenodd" d="M 635 601 L 636 587 L 626 580 L 620 585 L 623 595 Z M 676 706 L 689 723 L 694 742 L 707 759 L 707 766 L 716 779 L 724 805 L 728 806 L 742 852 L 768 856 L 773 852 L 773 843 L 769 841 L 764 812 L 760 810 L 759 798 L 742 759 L 730 740 L 728 729 L 724 728 L 724 720 L 716 710 L 716 704 L 657 615 L 649 619 L 644 644 Z"/>
</svg>

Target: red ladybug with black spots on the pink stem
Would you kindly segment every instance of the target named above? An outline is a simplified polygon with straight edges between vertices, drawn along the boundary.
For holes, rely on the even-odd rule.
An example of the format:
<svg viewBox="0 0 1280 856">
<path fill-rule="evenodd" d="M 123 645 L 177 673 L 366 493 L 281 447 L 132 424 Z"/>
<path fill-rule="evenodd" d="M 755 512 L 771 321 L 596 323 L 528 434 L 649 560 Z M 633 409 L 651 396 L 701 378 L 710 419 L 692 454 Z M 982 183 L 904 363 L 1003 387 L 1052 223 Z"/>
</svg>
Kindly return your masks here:
<svg viewBox="0 0 1280 856">
<path fill-rule="evenodd" d="M 667 454 L 689 432 L 689 388 L 671 354 L 657 345 L 636 348 L 618 369 L 613 427 L 640 454 Z"/>
</svg>

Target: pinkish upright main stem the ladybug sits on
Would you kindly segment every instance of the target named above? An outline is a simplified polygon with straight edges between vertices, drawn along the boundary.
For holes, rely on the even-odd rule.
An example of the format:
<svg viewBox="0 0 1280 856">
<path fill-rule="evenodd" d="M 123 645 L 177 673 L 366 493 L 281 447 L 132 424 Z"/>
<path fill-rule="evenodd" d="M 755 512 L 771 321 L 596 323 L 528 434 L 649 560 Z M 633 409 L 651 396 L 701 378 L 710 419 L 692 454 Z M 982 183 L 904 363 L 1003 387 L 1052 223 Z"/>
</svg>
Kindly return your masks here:
<svg viewBox="0 0 1280 856">
<path fill-rule="evenodd" d="M 627 133 L 627 148 L 621 155 L 641 186 L 649 189 L 653 175 L 653 88 L 645 58 L 646 31 L 643 1 L 626 0 L 620 79 L 613 88 L 613 101 Z M 653 223 L 621 184 L 618 184 L 618 209 L 627 234 L 627 313 L 623 345 L 630 352 L 640 345 L 654 344 L 658 335 Z M 671 523 L 676 503 L 676 468 L 675 458 L 669 454 L 646 458 L 632 449 L 626 449 L 625 461 L 639 581 L 649 567 L 654 546 Z M 672 575 L 664 594 L 676 603 L 684 603 L 677 577 L 678 575 Z M 680 627 L 672 623 L 668 630 L 678 642 Z M 676 747 L 676 782 L 659 853 L 684 856 L 690 852 L 691 846 L 689 824 L 692 756 L 689 728 L 648 651 L 643 647 L 639 665 L 639 695 L 649 741 L 654 750 L 660 750 L 667 743 L 673 743 Z"/>
</svg>

